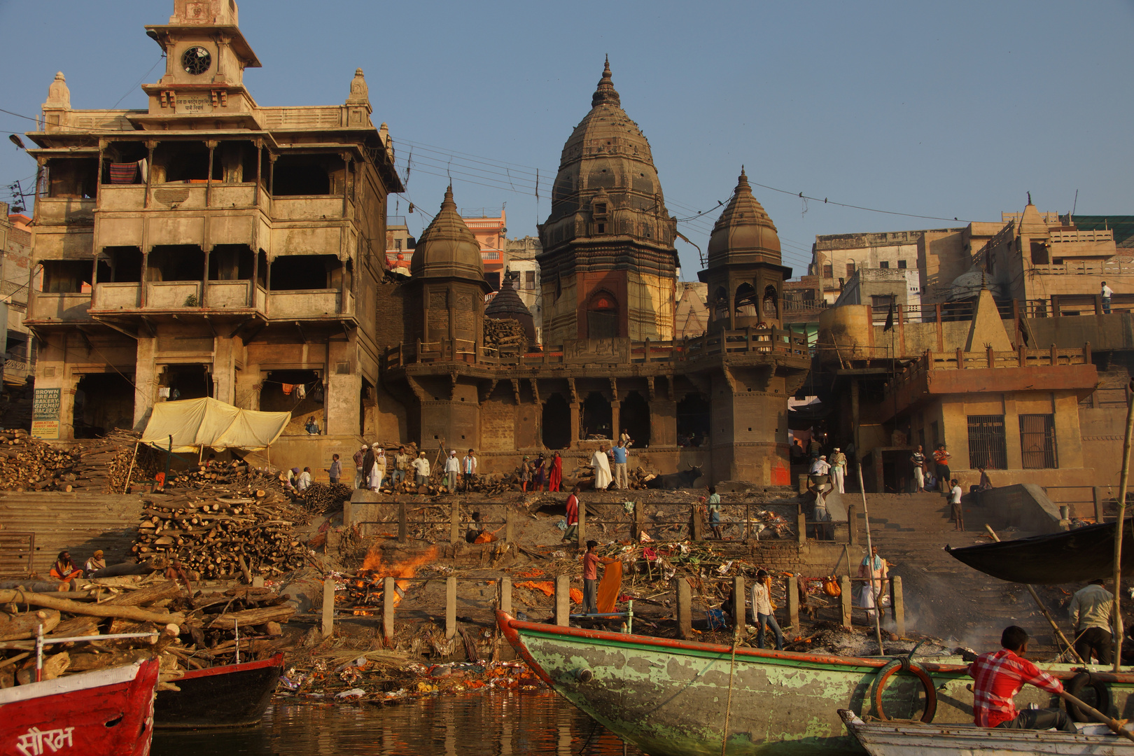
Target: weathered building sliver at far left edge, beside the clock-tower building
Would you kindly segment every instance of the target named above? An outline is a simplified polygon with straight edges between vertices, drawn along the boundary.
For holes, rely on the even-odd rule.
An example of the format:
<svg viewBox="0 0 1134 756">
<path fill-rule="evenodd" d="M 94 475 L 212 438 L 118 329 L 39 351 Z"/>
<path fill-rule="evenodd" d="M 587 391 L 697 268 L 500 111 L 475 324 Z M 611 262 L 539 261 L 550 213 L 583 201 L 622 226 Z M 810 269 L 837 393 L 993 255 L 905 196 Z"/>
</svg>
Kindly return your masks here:
<svg viewBox="0 0 1134 756">
<path fill-rule="evenodd" d="M 3 382 L 22 387 L 34 375 L 36 343 L 24 324 L 27 314 L 27 284 L 32 269 L 32 232 L 27 215 L 8 213 L 0 202 L 0 317 L 7 331 L 3 351 Z"/>
</svg>

